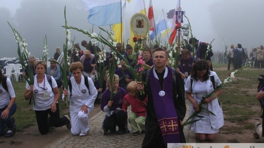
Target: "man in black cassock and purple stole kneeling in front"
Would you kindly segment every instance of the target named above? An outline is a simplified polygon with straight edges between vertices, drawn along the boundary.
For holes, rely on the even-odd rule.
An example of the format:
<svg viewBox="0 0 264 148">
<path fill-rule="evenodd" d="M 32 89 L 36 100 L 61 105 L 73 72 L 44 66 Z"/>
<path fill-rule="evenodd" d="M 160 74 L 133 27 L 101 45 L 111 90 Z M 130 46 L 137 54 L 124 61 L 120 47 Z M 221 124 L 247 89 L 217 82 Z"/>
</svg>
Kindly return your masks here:
<svg viewBox="0 0 264 148">
<path fill-rule="evenodd" d="M 138 83 L 138 90 L 145 92 L 138 92 L 138 98 L 144 100 L 148 96 L 142 148 L 167 148 L 168 143 L 186 143 L 181 127 L 186 106 L 180 74 L 166 66 L 168 52 L 164 48 L 154 49 L 153 61 L 154 67 L 142 74 L 142 81 L 147 84 Z"/>
</svg>

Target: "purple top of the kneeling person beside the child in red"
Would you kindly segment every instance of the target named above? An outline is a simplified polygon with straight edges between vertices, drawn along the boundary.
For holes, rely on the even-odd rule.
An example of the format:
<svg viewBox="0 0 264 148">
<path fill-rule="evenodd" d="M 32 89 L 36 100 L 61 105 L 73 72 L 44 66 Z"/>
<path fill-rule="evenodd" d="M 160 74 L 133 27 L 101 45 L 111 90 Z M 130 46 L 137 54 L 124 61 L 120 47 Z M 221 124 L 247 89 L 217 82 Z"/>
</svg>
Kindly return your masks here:
<svg viewBox="0 0 264 148">
<path fill-rule="evenodd" d="M 102 94 L 102 98 L 101 98 L 101 109 L 102 111 L 104 111 L 104 107 L 107 106 L 108 101 L 110 101 L 110 90 L 107 89 L 103 94 Z M 123 105 L 123 97 L 127 94 L 127 91 L 124 90 L 121 87 L 117 88 L 117 92 L 113 94 L 113 103 L 111 106 L 111 110 L 110 111 L 115 111 L 116 108 L 120 108 L 122 109 L 122 105 Z"/>
</svg>

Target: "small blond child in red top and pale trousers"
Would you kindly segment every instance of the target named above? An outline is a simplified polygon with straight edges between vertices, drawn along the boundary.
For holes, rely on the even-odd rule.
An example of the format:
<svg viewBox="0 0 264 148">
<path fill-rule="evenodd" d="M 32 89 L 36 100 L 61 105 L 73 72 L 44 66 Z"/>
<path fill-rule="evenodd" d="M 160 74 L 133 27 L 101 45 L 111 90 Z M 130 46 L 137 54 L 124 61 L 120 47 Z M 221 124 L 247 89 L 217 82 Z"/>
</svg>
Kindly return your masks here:
<svg viewBox="0 0 264 148">
<path fill-rule="evenodd" d="M 145 120 L 146 120 L 146 104 L 148 99 L 146 98 L 144 101 L 141 101 L 137 97 L 137 83 L 132 81 L 127 86 L 127 92 L 123 98 L 123 106 L 122 110 L 127 111 L 128 106 L 131 105 L 131 114 L 129 116 L 129 123 L 132 127 L 132 134 L 136 136 L 139 134 L 139 130 L 137 125 L 141 129 L 141 133 L 145 133 Z M 137 123 L 136 123 L 136 118 Z"/>
</svg>

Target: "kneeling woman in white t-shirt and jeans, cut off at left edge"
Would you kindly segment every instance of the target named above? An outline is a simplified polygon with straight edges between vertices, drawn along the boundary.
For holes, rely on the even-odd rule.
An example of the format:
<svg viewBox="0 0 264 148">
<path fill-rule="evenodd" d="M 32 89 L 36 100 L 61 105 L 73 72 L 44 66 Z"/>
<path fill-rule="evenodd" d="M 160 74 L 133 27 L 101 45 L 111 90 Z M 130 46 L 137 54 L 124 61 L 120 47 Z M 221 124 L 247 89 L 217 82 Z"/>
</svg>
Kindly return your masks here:
<svg viewBox="0 0 264 148">
<path fill-rule="evenodd" d="M 12 83 L 0 70 L 0 136 L 11 137 L 16 132 L 15 119 L 11 117 L 17 110 L 15 100 Z"/>
</svg>

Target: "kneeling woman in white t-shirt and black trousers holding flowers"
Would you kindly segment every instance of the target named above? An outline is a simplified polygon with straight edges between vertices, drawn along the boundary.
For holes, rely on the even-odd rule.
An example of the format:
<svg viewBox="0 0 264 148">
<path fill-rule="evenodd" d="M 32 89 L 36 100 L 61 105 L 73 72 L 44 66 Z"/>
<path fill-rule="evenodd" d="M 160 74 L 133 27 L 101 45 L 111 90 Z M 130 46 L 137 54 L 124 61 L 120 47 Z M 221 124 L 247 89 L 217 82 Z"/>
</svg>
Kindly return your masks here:
<svg viewBox="0 0 264 148">
<path fill-rule="evenodd" d="M 70 129 L 70 120 L 68 115 L 60 118 L 59 103 L 60 92 L 57 87 L 56 80 L 49 75 L 51 83 L 48 80 L 45 71 L 47 70 L 46 62 L 37 60 L 34 63 L 36 75 L 34 76 L 34 84 L 26 83 L 24 97 L 30 99 L 34 94 L 33 109 L 36 113 L 38 128 L 41 134 L 47 133 L 51 126 L 61 127 L 66 125 Z M 52 86 L 51 86 L 52 85 Z M 50 117 L 48 118 L 48 114 Z"/>
</svg>

